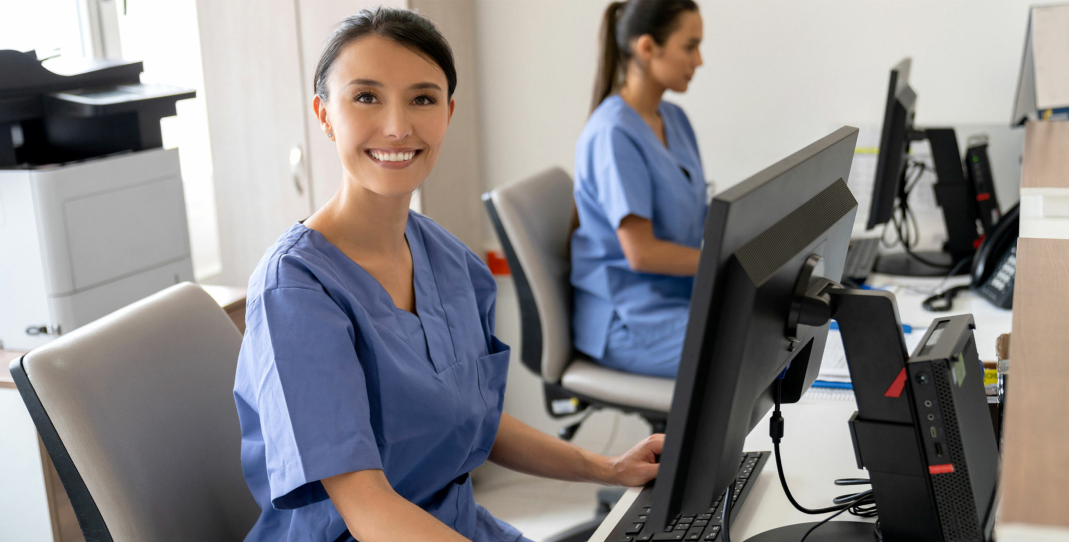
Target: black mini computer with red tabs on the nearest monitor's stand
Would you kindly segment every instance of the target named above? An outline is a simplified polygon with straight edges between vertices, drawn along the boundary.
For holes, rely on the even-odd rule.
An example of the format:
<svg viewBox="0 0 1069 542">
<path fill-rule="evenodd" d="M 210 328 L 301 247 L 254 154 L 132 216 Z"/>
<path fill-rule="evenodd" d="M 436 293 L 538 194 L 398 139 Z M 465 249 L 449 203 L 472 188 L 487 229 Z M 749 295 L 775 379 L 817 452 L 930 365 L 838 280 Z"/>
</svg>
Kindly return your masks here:
<svg viewBox="0 0 1069 542">
<path fill-rule="evenodd" d="M 865 307 L 852 298 L 874 297 L 845 294 L 839 311 L 854 315 Z M 898 326 L 897 315 L 887 318 Z M 869 471 L 883 540 L 991 540 L 998 450 L 972 315 L 932 322 L 904 367 L 901 354 L 882 345 L 901 341 L 900 328 L 850 320 L 839 325 L 858 404 L 851 436 L 858 467 Z"/>
</svg>

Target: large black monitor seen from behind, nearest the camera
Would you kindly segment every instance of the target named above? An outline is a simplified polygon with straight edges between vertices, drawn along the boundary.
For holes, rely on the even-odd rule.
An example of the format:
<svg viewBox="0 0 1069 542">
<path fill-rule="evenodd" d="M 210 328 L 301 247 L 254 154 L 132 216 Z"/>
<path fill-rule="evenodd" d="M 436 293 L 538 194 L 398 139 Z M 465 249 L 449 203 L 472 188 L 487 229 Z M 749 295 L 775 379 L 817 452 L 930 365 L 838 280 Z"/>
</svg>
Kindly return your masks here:
<svg viewBox="0 0 1069 542">
<path fill-rule="evenodd" d="M 842 127 L 713 199 L 649 521 L 703 512 L 733 483 L 743 442 L 781 397 L 816 380 L 828 324 L 789 330 L 796 284 L 839 280 L 857 202 L 857 128 Z M 814 270 L 814 269 L 810 269 Z M 807 283 L 807 282 L 806 282 Z"/>
</svg>

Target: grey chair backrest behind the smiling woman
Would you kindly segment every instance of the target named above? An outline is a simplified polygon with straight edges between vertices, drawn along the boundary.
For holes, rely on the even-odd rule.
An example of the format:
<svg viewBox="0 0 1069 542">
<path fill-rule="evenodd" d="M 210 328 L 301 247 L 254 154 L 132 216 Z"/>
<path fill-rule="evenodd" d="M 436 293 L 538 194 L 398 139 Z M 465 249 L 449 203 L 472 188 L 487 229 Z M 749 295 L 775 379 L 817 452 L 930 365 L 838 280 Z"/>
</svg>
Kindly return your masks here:
<svg viewBox="0 0 1069 542">
<path fill-rule="evenodd" d="M 87 541 L 239 541 L 260 508 L 242 476 L 242 336 L 185 282 L 12 363 Z"/>
</svg>

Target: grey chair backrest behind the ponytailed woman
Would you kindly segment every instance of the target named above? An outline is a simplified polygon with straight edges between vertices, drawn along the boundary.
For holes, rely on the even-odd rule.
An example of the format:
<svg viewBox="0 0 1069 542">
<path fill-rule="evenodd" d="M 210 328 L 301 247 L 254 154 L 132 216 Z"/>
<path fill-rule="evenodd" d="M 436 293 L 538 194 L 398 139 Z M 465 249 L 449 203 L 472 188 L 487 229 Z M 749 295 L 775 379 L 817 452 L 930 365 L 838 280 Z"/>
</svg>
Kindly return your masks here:
<svg viewBox="0 0 1069 542">
<path fill-rule="evenodd" d="M 521 359 L 559 383 L 572 360 L 572 177 L 553 168 L 483 195 L 520 297 Z"/>
</svg>

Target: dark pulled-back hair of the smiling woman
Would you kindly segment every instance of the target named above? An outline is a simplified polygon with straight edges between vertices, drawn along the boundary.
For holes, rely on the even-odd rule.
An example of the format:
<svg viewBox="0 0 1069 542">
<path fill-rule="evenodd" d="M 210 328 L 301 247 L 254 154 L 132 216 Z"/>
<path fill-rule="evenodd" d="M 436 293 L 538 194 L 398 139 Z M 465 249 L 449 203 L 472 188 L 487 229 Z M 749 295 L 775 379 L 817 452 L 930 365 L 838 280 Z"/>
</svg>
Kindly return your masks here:
<svg viewBox="0 0 1069 542">
<path fill-rule="evenodd" d="M 355 15 L 345 17 L 327 38 L 320 62 L 315 65 L 315 78 L 312 81 L 312 90 L 321 99 L 327 99 L 327 77 L 338 55 L 353 41 L 368 35 L 385 37 L 433 61 L 446 73 L 446 81 L 449 83 L 448 96 L 450 98 L 453 96 L 453 91 L 456 90 L 453 50 L 449 48 L 449 43 L 435 28 L 434 22 L 410 10 L 379 5 L 371 10 L 360 10 Z"/>
</svg>

